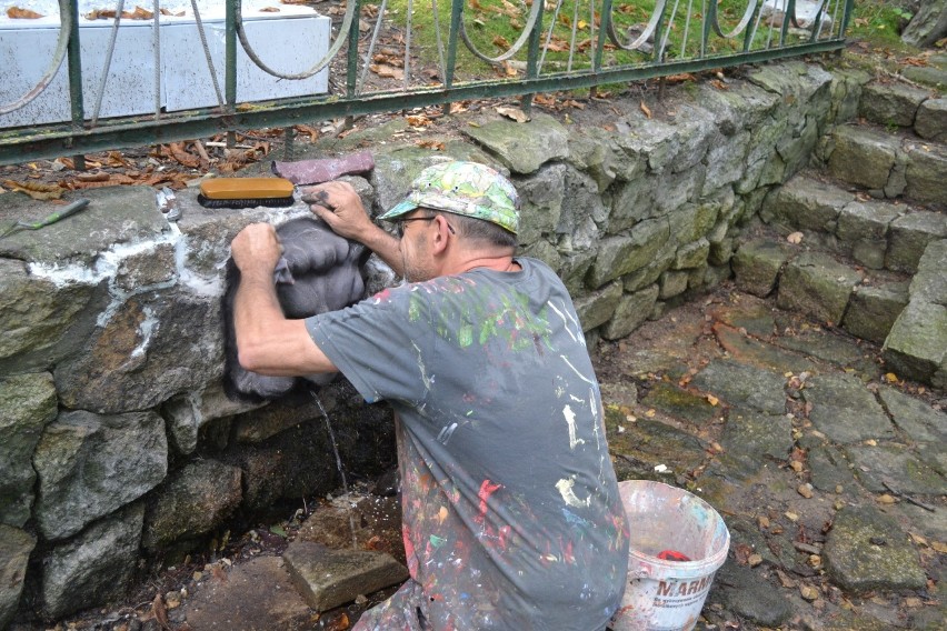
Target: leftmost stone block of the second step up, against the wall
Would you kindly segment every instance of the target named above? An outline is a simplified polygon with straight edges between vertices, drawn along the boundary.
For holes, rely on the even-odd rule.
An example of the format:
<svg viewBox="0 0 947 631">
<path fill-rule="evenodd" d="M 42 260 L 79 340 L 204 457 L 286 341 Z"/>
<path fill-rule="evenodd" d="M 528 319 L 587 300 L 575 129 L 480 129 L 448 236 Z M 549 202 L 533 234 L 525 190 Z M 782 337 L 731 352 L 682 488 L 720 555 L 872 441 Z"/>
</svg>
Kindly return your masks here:
<svg viewBox="0 0 947 631">
<path fill-rule="evenodd" d="M 854 200 L 836 186 L 796 177 L 766 197 L 760 214 L 781 226 L 834 233 L 841 209 Z"/>
</svg>

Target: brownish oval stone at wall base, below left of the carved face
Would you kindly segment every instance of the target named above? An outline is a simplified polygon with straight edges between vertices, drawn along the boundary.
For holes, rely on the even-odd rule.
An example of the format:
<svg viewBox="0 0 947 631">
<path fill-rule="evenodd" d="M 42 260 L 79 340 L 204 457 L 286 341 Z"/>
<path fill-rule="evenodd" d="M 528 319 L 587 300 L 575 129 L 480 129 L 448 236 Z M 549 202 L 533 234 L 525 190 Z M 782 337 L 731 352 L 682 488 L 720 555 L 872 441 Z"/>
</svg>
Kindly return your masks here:
<svg viewBox="0 0 947 631">
<path fill-rule="evenodd" d="M 179 539 L 207 534 L 240 504 L 240 469 L 213 460 L 196 460 L 176 471 L 148 511 L 141 544 L 161 550 Z"/>
</svg>

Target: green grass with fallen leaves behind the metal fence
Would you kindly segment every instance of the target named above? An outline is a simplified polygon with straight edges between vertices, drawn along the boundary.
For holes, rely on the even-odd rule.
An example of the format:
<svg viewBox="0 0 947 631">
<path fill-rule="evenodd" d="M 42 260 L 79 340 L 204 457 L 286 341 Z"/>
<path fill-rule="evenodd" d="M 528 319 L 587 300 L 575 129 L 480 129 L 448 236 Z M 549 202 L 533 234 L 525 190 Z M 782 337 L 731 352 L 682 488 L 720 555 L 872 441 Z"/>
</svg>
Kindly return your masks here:
<svg viewBox="0 0 947 631">
<path fill-rule="evenodd" d="M 450 24 L 451 1 L 436 0 L 437 11 L 428 1 L 413 2 L 411 18 L 411 43 L 422 63 L 439 64 L 438 34 L 442 46 L 447 47 Z M 717 3 L 717 19 L 720 30 L 730 33 L 741 22 L 747 10 L 747 0 L 720 0 Z M 884 7 L 883 3 L 879 6 Z M 687 13 L 687 3 L 668 3 L 664 20 L 661 20 L 657 37 L 637 50 L 626 50 L 646 30 L 656 7 L 655 0 L 635 0 L 632 2 L 616 2 L 612 7 L 612 21 L 616 46 L 606 39 L 602 51 L 605 67 L 647 63 L 655 60 L 654 48 L 664 44 L 664 59 L 691 59 L 705 56 L 730 54 L 748 47 L 759 50 L 768 46 L 777 46 L 780 37 L 780 23 L 768 18 L 754 19 L 750 28 L 755 27 L 755 37 L 746 42 L 746 31 L 731 38 L 710 32 L 704 41 L 701 4 L 695 2 L 692 10 Z M 587 0 L 546 0 L 546 10 L 541 14 L 541 43 L 548 48 L 541 54 L 542 72 L 565 72 L 591 68 L 592 57 L 600 37 L 601 3 L 597 2 L 596 11 Z M 829 7 L 833 12 L 834 4 Z M 532 2 L 526 0 L 466 0 L 462 22 L 470 43 L 484 57 L 497 59 L 507 53 L 511 47 L 522 40 L 529 23 Z M 390 0 L 387 19 L 401 29 L 408 26 L 408 0 Z M 884 13 L 886 20 L 894 16 L 893 9 Z M 438 19 L 436 19 L 436 17 Z M 887 22 L 885 22 L 887 24 Z M 886 27 L 888 28 L 888 27 Z M 884 29 L 880 29 L 884 30 Z M 825 29 L 828 37 L 829 29 Z M 798 32 L 789 34 L 789 43 L 803 41 Z M 521 76 L 526 68 L 528 42 L 509 56 L 508 59 L 495 63 L 486 62 L 471 53 L 462 43 L 458 43 L 457 68 L 458 77 L 482 77 L 485 72 L 495 72 L 499 77 Z M 571 51 L 571 52 L 570 52 Z"/>
</svg>

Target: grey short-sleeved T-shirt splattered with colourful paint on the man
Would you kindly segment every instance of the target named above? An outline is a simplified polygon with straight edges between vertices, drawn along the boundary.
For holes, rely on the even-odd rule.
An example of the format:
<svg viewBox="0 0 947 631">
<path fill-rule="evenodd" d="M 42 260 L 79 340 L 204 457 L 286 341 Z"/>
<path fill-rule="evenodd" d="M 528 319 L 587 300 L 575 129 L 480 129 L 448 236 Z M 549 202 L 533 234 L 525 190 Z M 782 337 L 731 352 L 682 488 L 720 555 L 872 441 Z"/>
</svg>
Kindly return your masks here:
<svg viewBox="0 0 947 631">
<path fill-rule="evenodd" d="M 598 382 L 556 274 L 475 269 L 307 320 L 397 412 L 403 535 L 438 630 L 599 629 L 628 531 Z"/>
</svg>

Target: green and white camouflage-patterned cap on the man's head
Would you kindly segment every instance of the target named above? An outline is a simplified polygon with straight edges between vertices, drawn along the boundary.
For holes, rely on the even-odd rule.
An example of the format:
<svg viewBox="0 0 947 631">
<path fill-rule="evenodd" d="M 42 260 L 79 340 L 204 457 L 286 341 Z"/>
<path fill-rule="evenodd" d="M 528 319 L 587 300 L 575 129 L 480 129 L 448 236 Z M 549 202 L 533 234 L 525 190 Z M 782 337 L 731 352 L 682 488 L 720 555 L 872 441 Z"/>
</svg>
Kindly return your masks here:
<svg viewBox="0 0 947 631">
<path fill-rule="evenodd" d="M 405 201 L 379 217 L 393 220 L 416 208 L 430 208 L 496 223 L 516 234 L 519 196 L 499 172 L 477 162 L 442 162 L 411 182 Z"/>
</svg>

